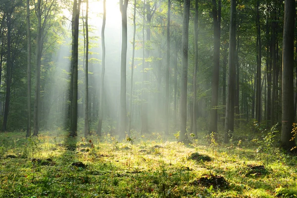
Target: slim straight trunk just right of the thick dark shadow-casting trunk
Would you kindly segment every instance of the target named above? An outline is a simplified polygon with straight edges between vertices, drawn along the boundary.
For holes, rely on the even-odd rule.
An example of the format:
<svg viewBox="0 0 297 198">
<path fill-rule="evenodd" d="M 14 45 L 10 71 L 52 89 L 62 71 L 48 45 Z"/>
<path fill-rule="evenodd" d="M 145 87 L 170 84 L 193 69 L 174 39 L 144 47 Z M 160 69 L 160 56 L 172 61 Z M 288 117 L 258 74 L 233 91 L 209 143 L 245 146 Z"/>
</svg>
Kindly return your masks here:
<svg viewBox="0 0 297 198">
<path fill-rule="evenodd" d="M 85 137 L 90 135 L 89 127 L 89 25 L 88 25 L 88 13 L 89 12 L 89 0 L 86 0 L 86 65 L 85 65 Z"/>
</svg>

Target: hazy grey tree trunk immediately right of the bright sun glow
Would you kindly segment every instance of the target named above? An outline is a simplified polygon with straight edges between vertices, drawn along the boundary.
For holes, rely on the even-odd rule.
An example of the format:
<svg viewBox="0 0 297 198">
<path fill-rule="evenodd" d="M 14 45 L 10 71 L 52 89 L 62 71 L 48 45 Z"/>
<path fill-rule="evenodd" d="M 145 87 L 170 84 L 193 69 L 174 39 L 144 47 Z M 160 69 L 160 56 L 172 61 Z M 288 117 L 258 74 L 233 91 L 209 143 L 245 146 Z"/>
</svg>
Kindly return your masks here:
<svg viewBox="0 0 297 198">
<path fill-rule="evenodd" d="M 128 1 L 120 0 L 122 13 L 122 52 L 121 52 L 121 91 L 120 91 L 120 139 L 126 136 L 127 106 L 126 106 L 126 64 L 127 64 L 127 7 Z"/>
</svg>

